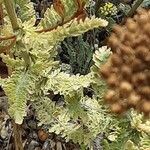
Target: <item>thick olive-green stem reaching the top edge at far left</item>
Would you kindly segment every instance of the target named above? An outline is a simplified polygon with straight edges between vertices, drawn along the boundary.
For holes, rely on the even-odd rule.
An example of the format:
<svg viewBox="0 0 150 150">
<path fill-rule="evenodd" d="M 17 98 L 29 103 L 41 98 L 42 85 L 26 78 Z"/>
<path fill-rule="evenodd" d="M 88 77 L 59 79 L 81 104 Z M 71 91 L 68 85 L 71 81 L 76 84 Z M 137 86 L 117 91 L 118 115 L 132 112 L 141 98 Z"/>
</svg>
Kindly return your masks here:
<svg viewBox="0 0 150 150">
<path fill-rule="evenodd" d="M 18 30 L 19 25 L 17 22 L 17 15 L 15 12 L 14 1 L 13 0 L 4 0 L 4 4 L 10 18 L 13 30 Z"/>
</svg>

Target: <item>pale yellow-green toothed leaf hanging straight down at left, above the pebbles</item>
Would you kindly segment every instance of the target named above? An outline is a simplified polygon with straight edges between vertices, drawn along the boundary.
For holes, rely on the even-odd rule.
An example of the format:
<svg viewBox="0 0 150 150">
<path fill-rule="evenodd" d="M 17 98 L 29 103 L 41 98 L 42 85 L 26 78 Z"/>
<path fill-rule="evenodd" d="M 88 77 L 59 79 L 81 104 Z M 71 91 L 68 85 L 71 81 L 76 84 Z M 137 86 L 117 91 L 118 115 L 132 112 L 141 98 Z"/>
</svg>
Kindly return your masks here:
<svg viewBox="0 0 150 150">
<path fill-rule="evenodd" d="M 8 96 L 9 114 L 16 123 L 22 124 L 26 116 L 26 102 L 28 91 L 32 87 L 32 80 L 27 72 L 14 72 L 2 85 Z"/>
</svg>

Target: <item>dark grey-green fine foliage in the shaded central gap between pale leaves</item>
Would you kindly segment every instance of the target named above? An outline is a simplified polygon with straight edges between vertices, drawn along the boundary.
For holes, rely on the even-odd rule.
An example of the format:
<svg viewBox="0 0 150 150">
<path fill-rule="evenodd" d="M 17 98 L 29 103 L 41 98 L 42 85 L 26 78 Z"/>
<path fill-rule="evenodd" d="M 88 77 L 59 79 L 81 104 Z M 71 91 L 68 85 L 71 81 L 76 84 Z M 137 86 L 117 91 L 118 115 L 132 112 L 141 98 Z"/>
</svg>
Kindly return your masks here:
<svg viewBox="0 0 150 150">
<path fill-rule="evenodd" d="M 84 37 L 67 38 L 62 43 L 63 52 L 61 54 L 67 58 L 74 74 L 80 73 L 85 75 L 89 73 L 93 64 L 93 41 L 89 42 L 88 38 L 84 39 Z"/>
</svg>

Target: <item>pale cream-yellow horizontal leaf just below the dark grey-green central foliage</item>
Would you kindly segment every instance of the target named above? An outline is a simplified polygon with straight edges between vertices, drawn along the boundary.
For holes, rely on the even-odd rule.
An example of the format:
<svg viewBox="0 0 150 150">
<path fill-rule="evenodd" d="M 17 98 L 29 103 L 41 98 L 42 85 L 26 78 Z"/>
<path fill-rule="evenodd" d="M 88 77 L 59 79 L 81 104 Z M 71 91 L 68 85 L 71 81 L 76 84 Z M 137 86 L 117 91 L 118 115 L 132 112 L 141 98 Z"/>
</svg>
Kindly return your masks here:
<svg viewBox="0 0 150 150">
<path fill-rule="evenodd" d="M 61 82 L 60 82 L 61 81 Z M 46 89 L 51 89 L 62 95 L 70 95 L 72 92 L 83 87 L 88 87 L 91 83 L 91 74 L 86 76 L 69 75 L 67 73 L 54 71 L 48 76 Z"/>
</svg>

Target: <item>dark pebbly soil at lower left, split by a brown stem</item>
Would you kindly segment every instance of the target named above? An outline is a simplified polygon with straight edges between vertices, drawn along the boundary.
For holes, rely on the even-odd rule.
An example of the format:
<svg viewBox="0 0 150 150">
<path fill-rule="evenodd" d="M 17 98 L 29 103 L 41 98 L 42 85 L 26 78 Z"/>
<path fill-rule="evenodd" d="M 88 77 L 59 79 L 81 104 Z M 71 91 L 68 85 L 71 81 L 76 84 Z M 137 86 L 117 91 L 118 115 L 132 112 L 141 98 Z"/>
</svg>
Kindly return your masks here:
<svg viewBox="0 0 150 150">
<path fill-rule="evenodd" d="M 7 106 L 7 97 L 0 97 L 0 150 L 15 150 L 13 124 Z M 48 133 L 46 127 L 38 126 L 32 108 L 21 125 L 21 133 L 24 150 L 80 150 L 79 145 L 71 141 L 66 143 L 60 135 Z"/>
</svg>

